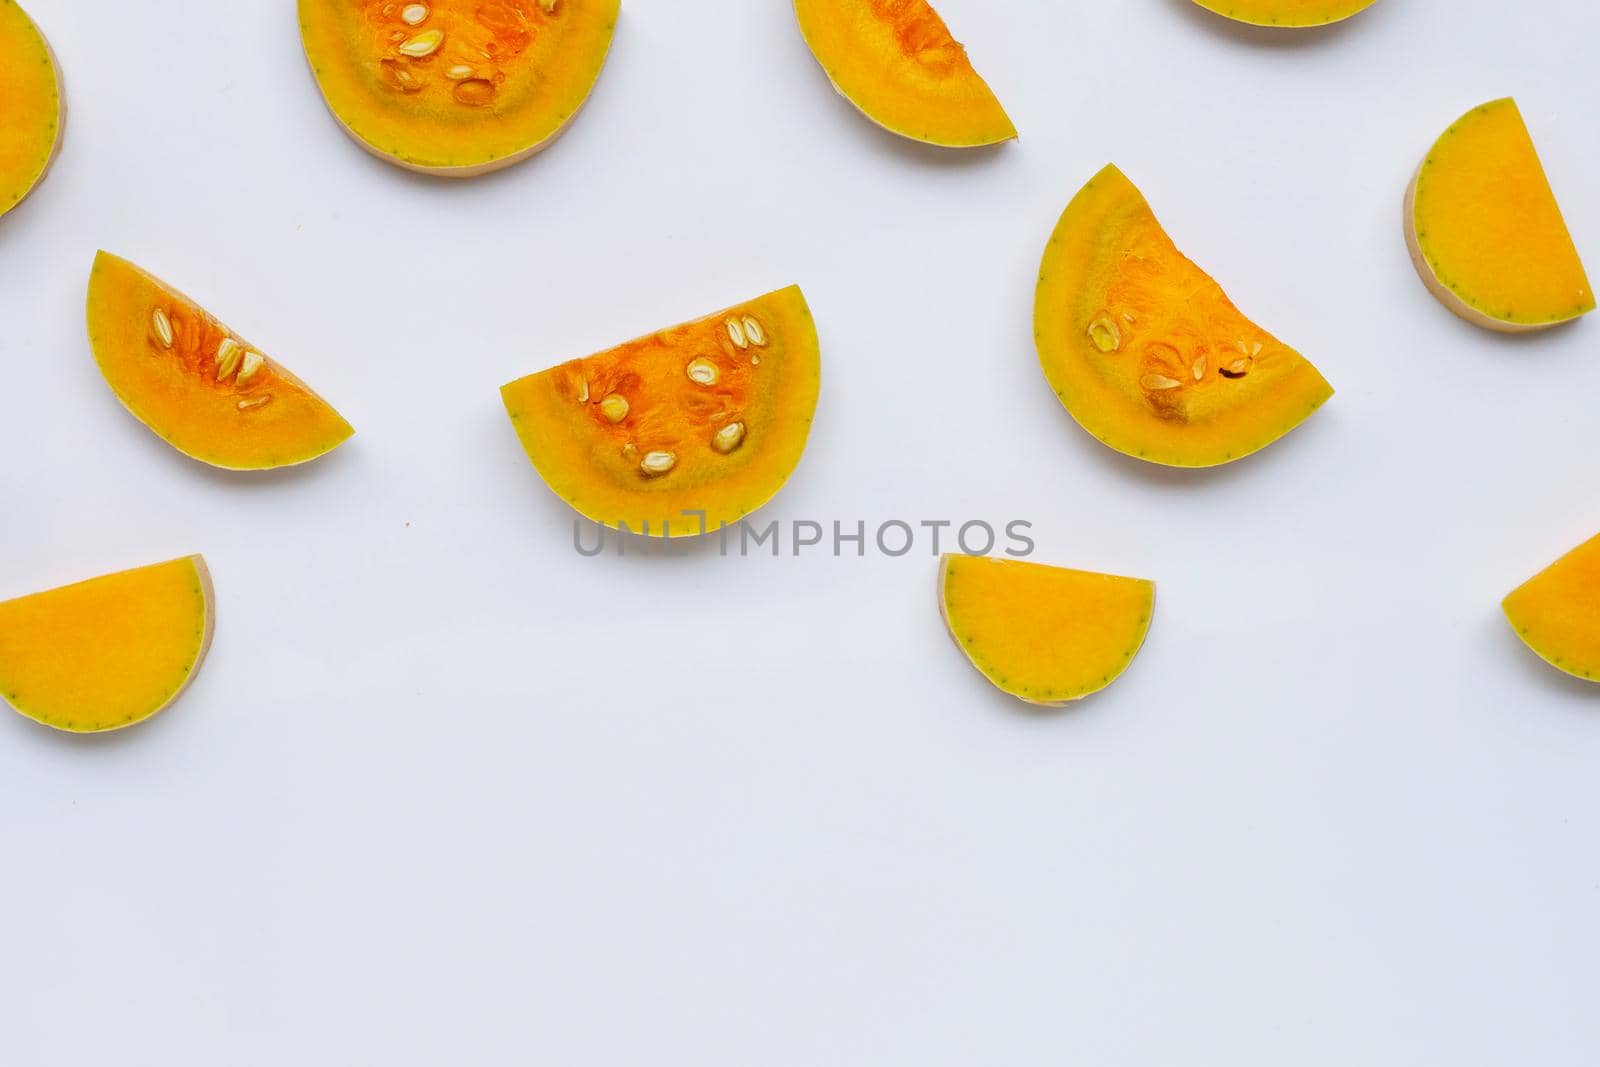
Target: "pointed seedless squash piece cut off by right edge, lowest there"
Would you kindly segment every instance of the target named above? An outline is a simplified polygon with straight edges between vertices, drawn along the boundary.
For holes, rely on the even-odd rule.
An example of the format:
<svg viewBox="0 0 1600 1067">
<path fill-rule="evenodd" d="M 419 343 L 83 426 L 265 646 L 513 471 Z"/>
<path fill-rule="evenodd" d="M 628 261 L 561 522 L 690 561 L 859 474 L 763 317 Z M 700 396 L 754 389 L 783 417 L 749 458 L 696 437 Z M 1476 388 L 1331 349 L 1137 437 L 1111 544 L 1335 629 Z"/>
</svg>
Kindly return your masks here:
<svg viewBox="0 0 1600 1067">
<path fill-rule="evenodd" d="M 1547 664 L 1600 681 L 1600 536 L 1518 585 L 1501 608 Z"/>
</svg>

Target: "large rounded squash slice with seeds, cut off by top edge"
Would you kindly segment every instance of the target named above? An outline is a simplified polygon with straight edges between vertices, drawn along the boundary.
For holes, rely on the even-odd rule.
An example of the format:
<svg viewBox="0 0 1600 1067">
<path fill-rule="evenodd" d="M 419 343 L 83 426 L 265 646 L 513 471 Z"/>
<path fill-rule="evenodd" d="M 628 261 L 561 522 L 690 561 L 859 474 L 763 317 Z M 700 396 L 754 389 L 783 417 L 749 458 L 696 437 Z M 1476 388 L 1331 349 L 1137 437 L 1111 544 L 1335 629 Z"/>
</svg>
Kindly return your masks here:
<svg viewBox="0 0 1600 1067">
<path fill-rule="evenodd" d="M 619 0 L 299 0 L 330 110 L 363 149 L 470 178 L 550 144 L 600 77 Z"/>
</svg>

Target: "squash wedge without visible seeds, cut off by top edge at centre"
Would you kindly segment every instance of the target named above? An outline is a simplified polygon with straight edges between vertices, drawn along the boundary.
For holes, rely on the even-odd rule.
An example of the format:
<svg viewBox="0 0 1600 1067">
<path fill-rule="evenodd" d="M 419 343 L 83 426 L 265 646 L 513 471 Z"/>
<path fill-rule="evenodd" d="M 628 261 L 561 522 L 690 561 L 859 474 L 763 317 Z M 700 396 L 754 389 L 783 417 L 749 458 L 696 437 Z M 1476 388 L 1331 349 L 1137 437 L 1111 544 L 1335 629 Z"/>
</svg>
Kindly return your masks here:
<svg viewBox="0 0 1600 1067">
<path fill-rule="evenodd" d="M 795 0 L 795 16 L 834 88 L 885 130 L 946 147 L 1016 138 L 926 0 Z"/>
</svg>

